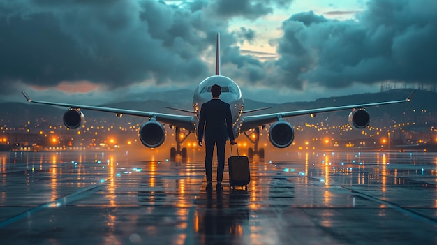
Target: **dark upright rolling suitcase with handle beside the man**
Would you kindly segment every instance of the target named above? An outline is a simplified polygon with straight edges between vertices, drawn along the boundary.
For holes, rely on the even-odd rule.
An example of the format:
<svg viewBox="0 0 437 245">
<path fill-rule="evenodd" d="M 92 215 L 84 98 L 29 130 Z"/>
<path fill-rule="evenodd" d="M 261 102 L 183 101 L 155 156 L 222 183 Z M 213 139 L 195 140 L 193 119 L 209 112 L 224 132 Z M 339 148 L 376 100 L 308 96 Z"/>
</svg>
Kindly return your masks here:
<svg viewBox="0 0 437 245">
<path fill-rule="evenodd" d="M 232 152 L 232 145 L 230 146 L 231 155 L 228 158 L 229 169 L 229 185 L 230 188 L 235 186 L 245 186 L 247 190 L 247 184 L 251 181 L 251 172 L 249 170 L 249 158 L 247 156 L 239 156 L 237 145 L 237 156 L 234 156 Z"/>
</svg>

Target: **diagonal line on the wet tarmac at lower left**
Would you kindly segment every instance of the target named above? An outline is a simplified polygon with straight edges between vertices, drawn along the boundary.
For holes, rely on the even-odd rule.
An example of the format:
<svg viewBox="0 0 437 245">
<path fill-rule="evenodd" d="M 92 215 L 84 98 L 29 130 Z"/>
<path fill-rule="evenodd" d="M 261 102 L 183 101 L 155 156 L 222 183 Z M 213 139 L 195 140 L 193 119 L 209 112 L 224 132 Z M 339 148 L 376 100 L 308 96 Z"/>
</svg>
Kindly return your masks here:
<svg viewBox="0 0 437 245">
<path fill-rule="evenodd" d="M 87 188 L 83 188 L 80 191 L 76 191 L 75 193 L 72 193 L 70 195 L 66 195 L 62 198 L 58 198 L 57 200 L 54 200 L 53 202 L 47 202 L 47 203 L 40 205 L 38 207 L 34 207 L 33 209 L 29 209 L 28 211 L 25 211 L 21 214 L 18 214 L 17 216 L 13 216 L 12 218 L 8 218 L 6 221 L 0 222 L 0 228 L 3 228 L 7 225 L 10 225 L 11 223 L 14 223 L 16 221 L 20 221 L 20 219 L 22 219 L 22 218 L 27 218 L 27 217 L 31 216 L 32 214 L 36 213 L 37 211 L 40 211 L 41 209 L 62 207 L 62 206 L 67 205 L 69 202 L 73 202 L 75 200 L 80 200 L 87 195 L 95 193 L 96 191 L 100 191 L 100 189 L 101 189 L 100 187 L 101 187 L 101 185 L 89 186 Z"/>
</svg>

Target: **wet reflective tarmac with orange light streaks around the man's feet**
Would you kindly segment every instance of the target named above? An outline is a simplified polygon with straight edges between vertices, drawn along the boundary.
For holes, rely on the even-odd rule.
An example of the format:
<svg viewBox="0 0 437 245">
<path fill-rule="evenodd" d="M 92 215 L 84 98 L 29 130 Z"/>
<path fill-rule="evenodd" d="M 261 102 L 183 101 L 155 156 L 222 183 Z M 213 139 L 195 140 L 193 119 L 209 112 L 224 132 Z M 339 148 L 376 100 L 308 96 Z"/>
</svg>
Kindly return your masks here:
<svg viewBox="0 0 437 245">
<path fill-rule="evenodd" d="M 0 152 L 0 244 L 437 244 L 436 153 L 274 155 L 207 192 L 196 152 Z"/>
</svg>

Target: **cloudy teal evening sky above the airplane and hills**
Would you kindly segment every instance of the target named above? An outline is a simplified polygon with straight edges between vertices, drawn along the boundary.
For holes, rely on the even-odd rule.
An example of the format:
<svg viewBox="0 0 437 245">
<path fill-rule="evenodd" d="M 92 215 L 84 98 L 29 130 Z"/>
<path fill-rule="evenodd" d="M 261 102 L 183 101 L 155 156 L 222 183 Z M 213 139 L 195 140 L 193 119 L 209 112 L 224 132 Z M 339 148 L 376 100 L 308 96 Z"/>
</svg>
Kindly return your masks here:
<svg viewBox="0 0 437 245">
<path fill-rule="evenodd" d="M 435 0 L 0 0 L 0 101 L 194 91 L 214 75 L 217 32 L 244 98 L 432 88 L 436 13 Z"/>
</svg>

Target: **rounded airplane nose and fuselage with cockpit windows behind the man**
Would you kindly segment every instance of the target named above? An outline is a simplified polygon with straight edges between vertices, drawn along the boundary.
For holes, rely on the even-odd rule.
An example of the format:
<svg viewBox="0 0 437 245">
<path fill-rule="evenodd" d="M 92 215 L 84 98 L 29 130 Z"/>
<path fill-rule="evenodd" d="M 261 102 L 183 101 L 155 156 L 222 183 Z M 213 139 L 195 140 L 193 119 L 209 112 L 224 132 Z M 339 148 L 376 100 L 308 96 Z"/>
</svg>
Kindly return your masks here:
<svg viewBox="0 0 437 245">
<path fill-rule="evenodd" d="M 232 81 L 229 77 L 223 75 L 214 75 L 207 77 L 200 82 L 198 87 L 194 91 L 193 95 L 193 109 L 195 117 L 199 119 L 200 108 L 202 104 L 211 100 L 211 87 L 217 84 L 221 87 L 220 99 L 230 105 L 230 111 L 232 114 L 232 127 L 234 128 L 235 137 L 239 134 L 239 125 L 241 125 L 241 116 L 243 112 L 244 100 L 242 97 L 242 91 L 238 85 Z"/>
</svg>

